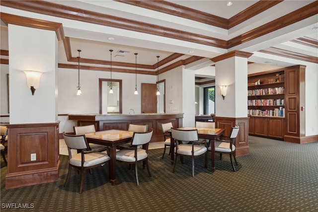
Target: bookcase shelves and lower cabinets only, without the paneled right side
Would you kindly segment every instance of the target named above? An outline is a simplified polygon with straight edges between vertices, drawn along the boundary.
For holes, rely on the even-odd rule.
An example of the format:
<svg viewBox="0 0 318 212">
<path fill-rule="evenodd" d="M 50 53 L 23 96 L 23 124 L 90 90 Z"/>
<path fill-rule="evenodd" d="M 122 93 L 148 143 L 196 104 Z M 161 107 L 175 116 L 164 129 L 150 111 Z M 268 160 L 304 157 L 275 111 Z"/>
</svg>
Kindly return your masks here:
<svg viewBox="0 0 318 212">
<path fill-rule="evenodd" d="M 248 133 L 284 138 L 285 72 L 266 71 L 248 76 Z"/>
</svg>

